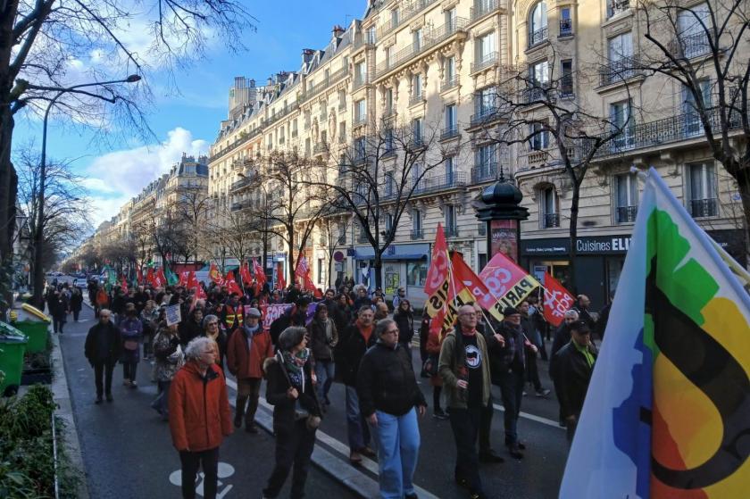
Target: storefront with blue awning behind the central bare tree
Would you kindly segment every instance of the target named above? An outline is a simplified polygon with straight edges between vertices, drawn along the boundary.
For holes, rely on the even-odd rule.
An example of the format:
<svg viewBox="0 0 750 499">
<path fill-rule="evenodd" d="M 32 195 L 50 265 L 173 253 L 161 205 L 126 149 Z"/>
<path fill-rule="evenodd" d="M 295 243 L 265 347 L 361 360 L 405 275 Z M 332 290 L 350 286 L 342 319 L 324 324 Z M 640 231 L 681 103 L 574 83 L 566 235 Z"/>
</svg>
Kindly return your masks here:
<svg viewBox="0 0 750 499">
<path fill-rule="evenodd" d="M 389 245 L 382 255 L 383 291 L 390 299 L 398 287 L 415 307 L 421 307 L 429 265 L 429 244 Z M 375 252 L 372 246 L 354 246 L 354 282 L 375 288 Z"/>
</svg>

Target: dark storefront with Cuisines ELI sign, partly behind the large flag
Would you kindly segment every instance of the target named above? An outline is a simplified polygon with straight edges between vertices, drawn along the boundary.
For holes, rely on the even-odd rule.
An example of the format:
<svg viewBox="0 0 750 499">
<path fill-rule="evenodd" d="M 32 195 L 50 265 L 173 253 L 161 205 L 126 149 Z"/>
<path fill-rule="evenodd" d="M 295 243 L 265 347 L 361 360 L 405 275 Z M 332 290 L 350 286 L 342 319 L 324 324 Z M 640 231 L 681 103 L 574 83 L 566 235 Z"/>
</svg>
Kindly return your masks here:
<svg viewBox="0 0 750 499">
<path fill-rule="evenodd" d="M 708 235 L 745 266 L 741 230 L 710 230 Z M 567 237 L 521 239 L 521 264 L 537 279 L 549 272 L 575 293 L 577 290 L 568 285 L 571 280 L 570 243 Z M 579 237 L 576 240 L 577 289 L 591 298 L 593 310 L 604 307 L 606 297 L 617 288 L 629 246 L 629 234 Z"/>
</svg>

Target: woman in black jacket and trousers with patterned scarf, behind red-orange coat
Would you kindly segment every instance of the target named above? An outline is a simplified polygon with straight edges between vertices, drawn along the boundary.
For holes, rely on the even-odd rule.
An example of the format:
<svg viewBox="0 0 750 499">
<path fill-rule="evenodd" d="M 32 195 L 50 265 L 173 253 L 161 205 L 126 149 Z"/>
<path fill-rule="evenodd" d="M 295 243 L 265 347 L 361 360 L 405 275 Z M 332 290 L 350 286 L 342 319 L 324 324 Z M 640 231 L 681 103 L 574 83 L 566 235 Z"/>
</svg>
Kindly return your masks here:
<svg viewBox="0 0 750 499">
<path fill-rule="evenodd" d="M 291 497 L 304 496 L 310 469 L 315 430 L 321 422 L 321 406 L 315 396 L 310 350 L 304 328 L 287 328 L 279 335 L 279 352 L 263 363 L 268 386 L 266 400 L 273 405 L 276 434 L 276 465 L 263 489 L 263 497 L 274 498 L 294 465 Z"/>
</svg>

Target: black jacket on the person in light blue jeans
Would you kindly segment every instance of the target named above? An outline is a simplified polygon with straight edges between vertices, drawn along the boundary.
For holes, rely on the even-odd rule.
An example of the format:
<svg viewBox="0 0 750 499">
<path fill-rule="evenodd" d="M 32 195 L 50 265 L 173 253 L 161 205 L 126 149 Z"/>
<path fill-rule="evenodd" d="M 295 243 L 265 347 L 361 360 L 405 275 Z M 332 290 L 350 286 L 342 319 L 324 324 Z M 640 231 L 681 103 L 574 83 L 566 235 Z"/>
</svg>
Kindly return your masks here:
<svg viewBox="0 0 750 499">
<path fill-rule="evenodd" d="M 403 416 L 418 405 L 427 405 L 404 346 L 376 343 L 362 357 L 357 371 L 357 396 L 364 417 L 375 411 Z"/>
</svg>

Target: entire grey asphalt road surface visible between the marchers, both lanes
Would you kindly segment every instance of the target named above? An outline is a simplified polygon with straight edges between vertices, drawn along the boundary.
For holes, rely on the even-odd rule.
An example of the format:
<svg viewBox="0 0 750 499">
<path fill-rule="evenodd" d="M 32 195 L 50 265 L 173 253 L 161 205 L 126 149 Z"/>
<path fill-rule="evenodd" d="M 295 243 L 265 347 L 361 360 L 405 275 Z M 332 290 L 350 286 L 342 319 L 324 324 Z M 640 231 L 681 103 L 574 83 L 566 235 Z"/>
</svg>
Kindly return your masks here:
<svg viewBox="0 0 750 499">
<path fill-rule="evenodd" d="M 69 323 L 61 337 L 63 357 L 79 437 L 84 454 L 89 490 L 97 497 L 179 497 L 178 454 L 171 446 L 166 423 L 148 407 L 156 395 L 149 382 L 150 365 L 141 362 L 138 370 L 139 387 L 122 386 L 122 370 L 115 369 L 113 382 L 114 403 L 95 405 L 93 372 L 83 358 L 83 342 L 87 329 L 93 325 L 93 313 L 87 307 L 79 324 Z M 414 369 L 419 370 L 419 351 L 414 348 Z M 551 387 L 547 363 L 539 362 L 545 387 Z M 429 403 L 428 414 L 421 419 L 421 452 L 415 484 L 421 497 L 459 499 L 467 497 L 453 480 L 455 446 L 449 421 L 435 420 L 432 414 L 432 387 L 429 380 L 419 378 L 421 389 Z M 234 403 L 234 380 L 229 376 L 229 399 Z M 489 497 L 518 499 L 547 499 L 556 497 L 562 479 L 568 444 L 565 432 L 557 425 L 558 406 L 554 394 L 547 398 L 534 396 L 529 388 L 521 406 L 519 423 L 521 439 L 527 445 L 522 461 L 513 460 L 504 451 L 503 412 L 500 394 L 493 388 L 496 412 L 491 442 L 497 453 L 504 455 L 503 464 L 482 464 L 480 474 Z M 262 389 L 262 395 L 265 390 Z M 323 451 L 335 462 L 326 465 L 324 472 L 314 468 L 308 480 L 309 497 L 346 498 L 355 495 L 331 474 L 340 477 L 341 466 L 356 470 L 362 480 L 376 487 L 377 463 L 365 460 L 363 466 L 352 469 L 348 464 L 346 443 L 346 413 L 344 389 L 334 384 L 332 404 L 318 431 L 318 451 Z M 270 408 L 260 411 L 268 419 Z M 221 497 L 260 496 L 264 482 L 271 472 L 273 439 L 268 433 L 248 435 L 239 431 L 221 446 L 221 462 L 225 476 L 221 478 Z M 330 461 L 329 461 L 330 462 Z M 287 496 L 288 487 L 282 492 Z"/>
</svg>

